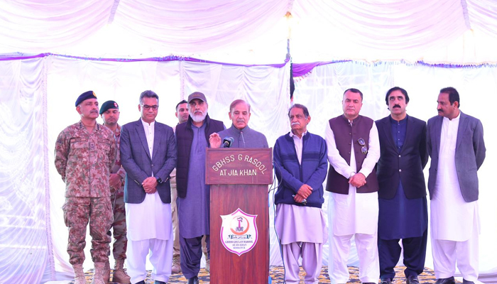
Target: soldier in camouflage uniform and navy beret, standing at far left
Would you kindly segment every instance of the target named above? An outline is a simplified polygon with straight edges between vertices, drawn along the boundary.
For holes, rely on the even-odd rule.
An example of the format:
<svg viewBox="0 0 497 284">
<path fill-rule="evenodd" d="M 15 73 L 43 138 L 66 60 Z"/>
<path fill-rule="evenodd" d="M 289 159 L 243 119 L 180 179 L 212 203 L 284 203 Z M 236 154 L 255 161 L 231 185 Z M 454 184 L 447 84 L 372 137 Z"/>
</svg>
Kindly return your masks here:
<svg viewBox="0 0 497 284">
<path fill-rule="evenodd" d="M 86 229 L 92 236 L 92 283 L 104 284 L 109 261 L 107 235 L 112 224 L 109 175 L 116 159 L 116 139 L 107 127 L 97 124 L 99 104 L 94 92 L 76 100 L 81 120 L 60 132 L 55 143 L 55 168 L 65 182 L 64 222 L 69 228 L 67 253 L 75 271 L 75 284 L 85 284 L 83 272 Z"/>
</svg>

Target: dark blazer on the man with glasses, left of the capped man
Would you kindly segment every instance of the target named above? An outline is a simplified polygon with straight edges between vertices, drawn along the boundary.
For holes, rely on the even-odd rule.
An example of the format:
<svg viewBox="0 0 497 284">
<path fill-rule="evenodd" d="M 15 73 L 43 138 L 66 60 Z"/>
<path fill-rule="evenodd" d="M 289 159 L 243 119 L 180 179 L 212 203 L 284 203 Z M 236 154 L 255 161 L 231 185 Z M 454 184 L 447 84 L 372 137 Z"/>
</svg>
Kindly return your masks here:
<svg viewBox="0 0 497 284">
<path fill-rule="evenodd" d="M 141 183 L 152 173 L 163 180 L 156 187 L 160 200 L 171 202 L 169 175 L 176 167 L 176 141 L 170 126 L 155 121 L 152 158 L 141 119 L 122 126 L 121 163 L 126 170 L 124 202 L 145 200 L 146 192 Z"/>
</svg>

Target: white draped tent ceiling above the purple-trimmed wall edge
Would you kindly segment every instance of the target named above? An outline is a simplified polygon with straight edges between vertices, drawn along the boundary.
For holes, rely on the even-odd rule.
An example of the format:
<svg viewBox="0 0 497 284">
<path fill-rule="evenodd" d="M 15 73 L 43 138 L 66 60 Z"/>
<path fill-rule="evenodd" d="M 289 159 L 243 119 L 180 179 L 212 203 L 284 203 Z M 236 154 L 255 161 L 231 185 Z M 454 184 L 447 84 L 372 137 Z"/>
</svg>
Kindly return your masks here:
<svg viewBox="0 0 497 284">
<path fill-rule="evenodd" d="M 287 16 L 285 16 L 287 15 Z M 491 0 L 0 0 L 0 53 L 497 62 Z"/>
</svg>

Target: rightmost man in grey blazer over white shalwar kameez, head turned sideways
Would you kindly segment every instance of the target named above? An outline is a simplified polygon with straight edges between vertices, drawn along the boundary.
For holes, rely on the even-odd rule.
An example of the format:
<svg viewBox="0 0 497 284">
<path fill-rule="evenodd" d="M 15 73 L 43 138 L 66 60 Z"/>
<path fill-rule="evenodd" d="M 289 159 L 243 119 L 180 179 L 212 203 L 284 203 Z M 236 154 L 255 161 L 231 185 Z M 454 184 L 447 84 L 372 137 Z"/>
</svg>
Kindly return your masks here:
<svg viewBox="0 0 497 284">
<path fill-rule="evenodd" d="M 478 174 L 485 160 L 481 121 L 459 111 L 459 93 L 440 90 L 438 116 L 428 120 L 430 217 L 436 284 L 453 284 L 457 268 L 463 283 L 478 279 Z"/>
</svg>

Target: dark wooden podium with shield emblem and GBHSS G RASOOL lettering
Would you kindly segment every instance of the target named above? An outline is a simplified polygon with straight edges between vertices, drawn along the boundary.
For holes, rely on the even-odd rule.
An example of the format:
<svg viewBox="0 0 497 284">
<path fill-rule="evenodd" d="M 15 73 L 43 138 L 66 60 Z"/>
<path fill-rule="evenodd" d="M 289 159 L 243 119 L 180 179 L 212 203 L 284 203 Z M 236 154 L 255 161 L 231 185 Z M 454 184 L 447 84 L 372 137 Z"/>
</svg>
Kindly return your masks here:
<svg viewBox="0 0 497 284">
<path fill-rule="evenodd" d="M 272 154 L 271 148 L 207 148 L 211 283 L 268 283 Z"/>
</svg>

